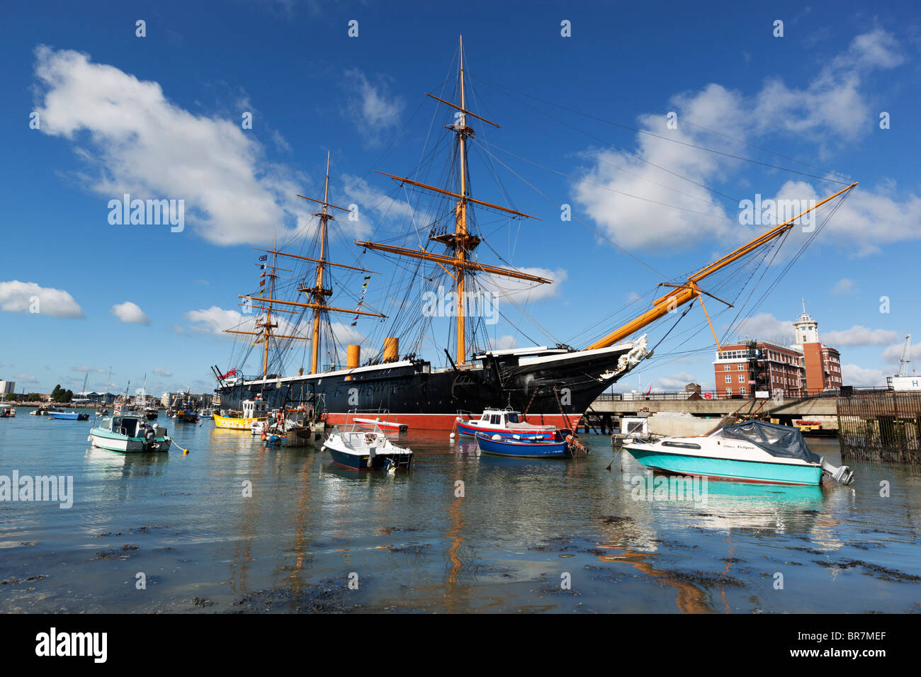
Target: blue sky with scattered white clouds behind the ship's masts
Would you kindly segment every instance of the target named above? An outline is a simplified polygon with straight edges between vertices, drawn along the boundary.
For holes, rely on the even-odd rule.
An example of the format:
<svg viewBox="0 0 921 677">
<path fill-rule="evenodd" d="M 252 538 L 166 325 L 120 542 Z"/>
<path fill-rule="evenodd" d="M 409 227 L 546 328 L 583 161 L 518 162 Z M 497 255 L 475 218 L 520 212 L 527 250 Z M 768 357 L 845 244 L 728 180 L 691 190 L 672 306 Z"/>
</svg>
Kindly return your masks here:
<svg viewBox="0 0 921 677">
<path fill-rule="evenodd" d="M 747 326 L 728 327 L 733 311 L 715 323 L 720 334 L 777 336 L 806 298 L 822 340 L 842 352 L 845 384 L 882 385 L 904 334 L 921 335 L 917 14 L 911 3 L 743 5 L 5 6 L 0 378 L 17 391 L 77 390 L 88 372 L 101 390 L 111 367 L 116 391 L 145 374 L 150 391 L 210 390 L 208 366 L 230 366 L 232 340 L 219 330 L 253 287 L 252 247 L 309 228 L 312 210 L 294 194 L 321 192 L 327 149 L 331 201 L 362 215 L 338 222 L 334 256 L 384 273 L 367 297 L 382 308 L 390 263 L 346 243 L 405 228 L 407 195 L 372 170 L 405 175 L 433 121 L 432 134 L 448 134 L 449 114 L 425 92 L 455 75 L 462 33 L 471 108 L 502 125 L 472 123 L 475 196 L 510 198 L 542 219 L 480 222 L 511 263 L 557 281 L 519 292 L 541 326 L 507 309 L 510 321 L 490 328 L 500 344 L 552 336 L 583 347 L 626 319 L 605 320 L 632 298 L 752 237 L 741 199 L 821 198 L 860 181 Z M 146 37 L 135 35 L 138 19 Z M 507 193 L 488 179 L 489 158 Z M 183 199 L 185 228 L 111 225 L 108 203 L 125 192 Z M 560 220 L 560 204 L 572 221 Z M 791 235 L 788 249 L 803 238 Z M 787 247 L 779 257 L 789 261 Z M 29 312 L 36 296 L 41 311 Z M 685 321 L 694 332 L 662 344 L 621 389 L 639 378 L 644 389 L 712 387 L 713 338 L 699 308 Z M 356 332 L 370 329 L 362 321 Z"/>
</svg>

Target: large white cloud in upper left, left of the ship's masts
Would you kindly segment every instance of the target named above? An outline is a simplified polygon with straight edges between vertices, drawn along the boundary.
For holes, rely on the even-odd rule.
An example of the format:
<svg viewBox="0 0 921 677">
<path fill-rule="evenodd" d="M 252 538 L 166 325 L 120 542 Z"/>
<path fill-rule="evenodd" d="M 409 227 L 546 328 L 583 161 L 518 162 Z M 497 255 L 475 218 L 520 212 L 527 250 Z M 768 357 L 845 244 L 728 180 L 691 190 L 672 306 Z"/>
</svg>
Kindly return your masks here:
<svg viewBox="0 0 921 677">
<path fill-rule="evenodd" d="M 186 218 L 216 244 L 272 241 L 309 219 L 292 171 L 265 161 L 239 121 L 185 111 L 157 82 L 71 50 L 36 50 L 41 132 L 75 145 L 109 198 L 185 200 Z M 108 210 L 100 206 L 99 218 Z M 156 228 L 156 227 L 154 227 Z M 289 235 L 293 230 L 280 236 Z"/>
</svg>

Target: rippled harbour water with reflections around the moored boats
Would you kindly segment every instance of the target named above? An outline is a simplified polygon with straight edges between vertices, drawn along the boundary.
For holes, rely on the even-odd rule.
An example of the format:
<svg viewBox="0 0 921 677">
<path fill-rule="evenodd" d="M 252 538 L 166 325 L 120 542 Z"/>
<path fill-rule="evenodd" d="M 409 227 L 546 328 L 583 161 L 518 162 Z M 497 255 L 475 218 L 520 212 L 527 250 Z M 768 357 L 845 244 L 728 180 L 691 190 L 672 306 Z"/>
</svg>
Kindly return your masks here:
<svg viewBox="0 0 921 677">
<path fill-rule="evenodd" d="M 29 411 L 0 420 L 0 475 L 73 476 L 74 503 L 0 502 L 5 613 L 921 612 L 915 466 L 689 499 L 641 496 L 645 470 L 600 436 L 526 461 L 410 431 L 415 469 L 388 475 L 164 414 L 188 454 L 91 449 L 92 420 Z"/>
</svg>

